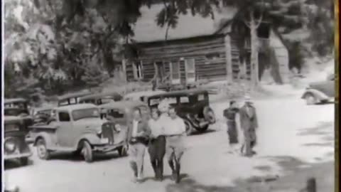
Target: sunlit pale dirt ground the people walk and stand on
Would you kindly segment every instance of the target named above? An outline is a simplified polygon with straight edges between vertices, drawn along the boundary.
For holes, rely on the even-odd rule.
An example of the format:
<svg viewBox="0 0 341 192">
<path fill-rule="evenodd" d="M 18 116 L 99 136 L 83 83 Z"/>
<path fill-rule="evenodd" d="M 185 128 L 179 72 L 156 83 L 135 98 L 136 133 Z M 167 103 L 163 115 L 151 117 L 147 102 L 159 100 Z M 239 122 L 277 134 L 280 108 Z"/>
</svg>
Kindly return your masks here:
<svg viewBox="0 0 341 192">
<path fill-rule="evenodd" d="M 222 110 L 227 102 L 213 104 L 220 121 L 210 132 L 188 137 L 183 156 L 183 184 L 169 179 L 153 181 L 149 157 L 145 159 L 147 180 L 130 182 L 128 159 L 116 154 L 87 164 L 68 154 L 41 161 L 36 155 L 30 166 L 5 171 L 6 183 L 21 191 L 220 191 L 232 188 L 235 179 L 286 174 L 291 169 L 334 159 L 334 105 L 306 106 L 298 97 L 256 100 L 259 116 L 258 154 L 245 158 L 229 154 Z M 33 149 L 35 150 L 35 149 Z M 165 174 L 170 170 L 165 165 Z M 330 173 L 333 174 L 333 173 Z M 221 190 L 224 191 L 224 190 Z"/>
</svg>

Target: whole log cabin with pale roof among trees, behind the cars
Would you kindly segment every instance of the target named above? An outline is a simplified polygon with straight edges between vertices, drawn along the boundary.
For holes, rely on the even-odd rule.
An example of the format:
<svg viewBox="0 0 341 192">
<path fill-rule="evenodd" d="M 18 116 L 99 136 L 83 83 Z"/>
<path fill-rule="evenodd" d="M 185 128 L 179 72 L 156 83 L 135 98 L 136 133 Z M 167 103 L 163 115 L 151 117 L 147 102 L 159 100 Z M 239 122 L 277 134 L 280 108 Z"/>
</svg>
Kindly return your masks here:
<svg viewBox="0 0 341 192">
<path fill-rule="evenodd" d="M 234 8 L 217 11 L 215 18 L 180 15 L 176 28 L 156 26 L 162 5 L 142 8 L 134 28 L 139 55 L 122 61 L 126 80 L 157 80 L 158 85 L 191 85 L 198 80 L 251 80 L 249 28 L 235 18 Z M 288 51 L 262 22 L 259 36 L 259 79 L 266 68 L 278 83 L 288 75 Z M 166 41 L 165 41 L 166 40 Z"/>
</svg>

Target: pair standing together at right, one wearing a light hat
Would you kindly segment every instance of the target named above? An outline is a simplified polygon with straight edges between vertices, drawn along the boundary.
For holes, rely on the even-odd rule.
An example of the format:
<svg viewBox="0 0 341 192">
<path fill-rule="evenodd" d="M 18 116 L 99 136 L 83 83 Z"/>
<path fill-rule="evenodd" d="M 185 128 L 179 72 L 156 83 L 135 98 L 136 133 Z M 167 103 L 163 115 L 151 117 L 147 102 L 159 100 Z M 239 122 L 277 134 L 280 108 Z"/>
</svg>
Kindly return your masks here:
<svg viewBox="0 0 341 192">
<path fill-rule="evenodd" d="M 256 154 L 253 149 L 256 145 L 258 119 L 251 97 L 246 96 L 244 105 L 240 108 L 236 101 L 229 102 L 229 107 L 224 110 L 223 115 L 227 120 L 227 134 L 231 152 L 249 157 Z"/>
</svg>

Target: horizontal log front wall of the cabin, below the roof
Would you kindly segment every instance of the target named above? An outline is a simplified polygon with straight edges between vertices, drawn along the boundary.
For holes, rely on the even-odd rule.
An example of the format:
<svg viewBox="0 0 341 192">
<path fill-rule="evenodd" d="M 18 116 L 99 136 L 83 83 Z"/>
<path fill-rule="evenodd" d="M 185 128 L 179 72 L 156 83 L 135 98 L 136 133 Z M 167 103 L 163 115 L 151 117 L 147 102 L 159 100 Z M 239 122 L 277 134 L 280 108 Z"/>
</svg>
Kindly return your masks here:
<svg viewBox="0 0 341 192">
<path fill-rule="evenodd" d="M 143 65 L 143 79 L 151 80 L 156 72 L 154 63 L 163 62 L 164 70 L 169 73 L 169 62 L 180 62 L 180 79 L 185 80 L 185 59 L 195 59 L 195 73 L 197 80 L 226 80 L 227 60 L 224 36 L 205 36 L 200 38 L 186 38 L 183 40 L 141 43 L 141 60 Z M 216 55 L 210 59 L 210 55 Z M 208 57 L 208 58 L 207 58 Z M 131 63 L 126 63 L 126 78 L 134 80 Z"/>
</svg>

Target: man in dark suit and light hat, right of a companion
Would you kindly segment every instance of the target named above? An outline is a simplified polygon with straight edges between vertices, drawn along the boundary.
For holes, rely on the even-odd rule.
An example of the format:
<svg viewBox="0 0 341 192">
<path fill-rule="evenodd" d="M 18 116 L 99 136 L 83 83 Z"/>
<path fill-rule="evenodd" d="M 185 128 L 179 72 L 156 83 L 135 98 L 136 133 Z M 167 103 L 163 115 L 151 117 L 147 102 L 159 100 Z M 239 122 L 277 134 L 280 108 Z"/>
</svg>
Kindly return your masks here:
<svg viewBox="0 0 341 192">
<path fill-rule="evenodd" d="M 245 149 L 245 156 L 252 156 L 255 154 L 252 149 L 256 144 L 256 129 L 258 128 L 258 119 L 256 115 L 256 108 L 251 102 L 251 97 L 246 96 L 244 106 L 239 109 L 240 127 L 244 132 L 244 144 L 242 152 Z"/>
</svg>

